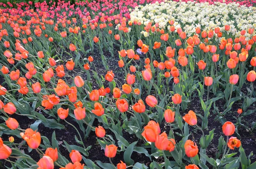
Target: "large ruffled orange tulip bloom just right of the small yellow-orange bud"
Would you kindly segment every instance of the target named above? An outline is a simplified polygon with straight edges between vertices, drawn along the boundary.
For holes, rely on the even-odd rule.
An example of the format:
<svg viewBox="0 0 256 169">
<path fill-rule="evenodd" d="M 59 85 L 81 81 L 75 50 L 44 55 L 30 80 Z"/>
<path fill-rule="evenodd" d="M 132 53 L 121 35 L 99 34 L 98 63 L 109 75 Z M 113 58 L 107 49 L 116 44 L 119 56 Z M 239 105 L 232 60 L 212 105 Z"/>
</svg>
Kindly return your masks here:
<svg viewBox="0 0 256 169">
<path fill-rule="evenodd" d="M 39 132 L 32 129 L 26 129 L 25 133 L 20 133 L 20 136 L 26 141 L 31 149 L 37 149 L 41 143 L 41 135 Z"/>
</svg>

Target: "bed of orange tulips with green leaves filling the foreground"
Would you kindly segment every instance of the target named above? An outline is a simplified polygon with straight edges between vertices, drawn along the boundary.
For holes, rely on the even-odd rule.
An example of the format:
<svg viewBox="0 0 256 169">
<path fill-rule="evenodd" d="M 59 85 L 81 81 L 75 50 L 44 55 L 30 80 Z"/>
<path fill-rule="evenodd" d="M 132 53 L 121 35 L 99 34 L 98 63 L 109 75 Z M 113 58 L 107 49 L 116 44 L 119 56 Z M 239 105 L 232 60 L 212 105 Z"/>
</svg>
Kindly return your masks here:
<svg viewBox="0 0 256 169">
<path fill-rule="evenodd" d="M 122 2 L 120 6 L 125 8 L 135 3 Z M 250 127 L 241 121 L 255 112 L 249 109 L 256 101 L 253 87 L 256 79 L 255 26 L 246 26 L 239 34 L 230 34 L 230 27 L 233 29 L 233 26 L 228 24 L 209 30 L 196 27 L 193 32 L 186 32 L 186 26 L 175 24 L 179 21 L 176 18 L 169 20 L 168 26 L 151 22 L 143 25 L 140 20 L 128 20 L 130 14 L 126 17 L 107 16 L 101 12 L 95 14 L 97 10 L 93 4 L 97 3 L 87 4 L 90 7 L 87 16 L 74 6 L 68 8 L 68 3 L 58 3 L 59 6 L 55 10 L 52 6 L 50 11 L 47 11 L 47 4 L 41 6 L 41 10 L 35 4 L 37 10 L 33 11 L 25 3 L 20 9 L 26 6 L 26 11 L 0 11 L 3 43 L 0 47 L 0 68 L 5 79 L 0 86 L 0 117 L 4 120 L 0 135 L 22 138 L 29 151 L 35 149 L 41 157 L 36 162 L 31 156 L 23 154 L 16 145 L 26 147 L 26 143 L 15 143 L 12 136 L 9 141 L 0 139 L 0 159 L 20 169 L 53 169 L 57 166 L 61 169 L 198 169 L 198 166 L 202 169 L 209 166 L 225 169 L 239 168 L 240 164 L 243 169 L 255 168 L 256 163 L 250 161 L 251 155 L 246 157 L 238 131 L 242 126 L 253 133 L 255 128 L 255 123 Z M 111 10 L 111 4 L 115 6 L 116 3 L 102 4 Z M 179 6 L 182 8 L 189 4 L 180 3 Z M 155 3 L 152 6 L 159 8 L 158 5 Z M 203 3 L 201 5 L 204 6 Z M 236 10 L 244 8 L 237 6 Z M 56 15 L 58 18 L 55 19 L 51 10 L 61 16 Z M 121 11 L 115 10 L 122 13 L 122 8 Z M 64 11 L 69 11 L 70 15 L 67 16 Z M 73 11 L 77 12 L 73 14 Z M 238 20 L 234 22 L 238 23 Z M 142 30 L 144 36 L 141 35 Z M 86 46 L 90 46 L 87 51 Z M 114 46 L 120 48 L 118 59 Z M 88 55 L 94 52 L 94 48 L 98 49 L 101 57 L 97 60 Z M 115 61 L 123 70 L 124 83 L 120 82 L 122 77 L 116 77 L 116 72 L 109 69 L 110 61 L 103 49 L 109 50 L 111 62 Z M 70 59 L 62 60 L 63 53 L 69 54 Z M 107 70 L 105 78 L 100 77 L 99 67 L 95 67 L 97 62 Z M 86 79 L 77 69 L 86 74 Z M 72 83 L 68 83 L 67 79 L 71 79 Z M 96 81 L 97 87 L 91 85 L 92 80 Z M 204 95 L 205 86 L 207 96 Z M 247 86 L 247 92 L 242 92 L 243 86 Z M 189 110 L 189 104 L 198 99 L 201 110 Z M 216 105 L 217 100 L 223 100 L 224 105 Z M 239 100 L 243 103 L 237 111 L 237 121 L 232 123 L 225 115 Z M 226 141 L 222 136 L 215 138 L 214 129 L 209 135 L 204 134 L 209 128 L 210 112 L 215 114 L 216 121 L 222 123 Z M 35 123 L 29 129 L 21 129 L 19 123 L 23 122 L 13 118 L 14 114 L 26 116 Z M 82 133 L 67 120 L 68 116 L 79 124 Z M 202 121 L 201 126 L 198 126 L 198 117 Z M 101 126 L 93 126 L 96 120 Z M 62 122 L 75 129 L 78 135 L 75 140 L 79 146 L 65 140 L 61 140 L 64 143 L 59 145 L 60 138 L 56 138 L 55 132 L 50 143 L 49 135 L 42 136 L 37 131 L 40 123 L 52 129 L 64 129 Z M 169 124 L 168 134 L 166 129 L 161 132 L 160 125 L 163 123 Z M 195 140 L 189 140 L 189 126 L 202 132 L 198 144 L 200 148 Z M 85 146 L 84 138 L 90 139 L 91 131 L 95 132 L 97 142 L 110 163 L 102 163 L 100 158 L 90 160 L 90 147 Z M 139 141 L 129 143 L 123 137 L 124 132 L 136 136 L 140 144 Z M 177 136 L 182 139 L 177 141 Z M 219 140 L 215 158 L 208 157 L 206 153 L 212 139 Z M 72 163 L 61 155 L 59 146 L 67 148 Z M 239 148 L 240 152 L 236 157 L 235 153 L 229 154 L 235 148 Z M 111 158 L 120 152 L 124 152 L 124 162 L 113 164 Z M 150 166 L 134 164 L 133 152 L 147 156 L 152 161 Z M 159 157 L 163 157 L 164 163 L 152 159 Z"/>
</svg>

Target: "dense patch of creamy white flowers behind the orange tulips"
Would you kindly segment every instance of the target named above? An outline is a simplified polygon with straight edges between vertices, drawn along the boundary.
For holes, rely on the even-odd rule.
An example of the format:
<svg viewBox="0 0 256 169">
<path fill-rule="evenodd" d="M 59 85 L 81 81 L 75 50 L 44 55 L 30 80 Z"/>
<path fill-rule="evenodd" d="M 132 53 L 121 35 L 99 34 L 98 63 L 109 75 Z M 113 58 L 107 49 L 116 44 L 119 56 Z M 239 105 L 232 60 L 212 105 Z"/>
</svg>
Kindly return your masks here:
<svg viewBox="0 0 256 169">
<path fill-rule="evenodd" d="M 243 29 L 256 28 L 256 7 L 239 6 L 238 3 L 156 2 L 137 6 L 130 16 L 131 21 L 137 20 L 144 25 L 158 23 L 160 28 L 166 28 L 169 20 L 174 20 L 175 28 L 181 27 L 189 36 L 197 27 L 206 31 L 221 27 L 223 31 L 225 25 L 230 25 L 230 32 L 236 36 Z M 245 36 L 250 37 L 250 34 Z"/>
</svg>

